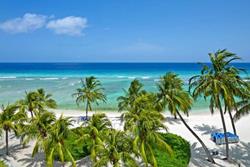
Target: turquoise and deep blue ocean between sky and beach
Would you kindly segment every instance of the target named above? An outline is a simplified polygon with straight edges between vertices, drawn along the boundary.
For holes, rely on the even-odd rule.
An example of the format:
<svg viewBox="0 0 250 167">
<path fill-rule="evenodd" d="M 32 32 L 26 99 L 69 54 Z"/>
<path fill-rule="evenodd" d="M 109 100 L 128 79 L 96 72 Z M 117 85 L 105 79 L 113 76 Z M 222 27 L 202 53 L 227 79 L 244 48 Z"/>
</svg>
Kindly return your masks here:
<svg viewBox="0 0 250 167">
<path fill-rule="evenodd" d="M 250 63 L 235 63 L 250 71 Z M 156 91 L 156 83 L 166 72 L 177 73 L 185 82 L 199 74 L 198 63 L 0 63 L 0 104 L 8 104 L 25 96 L 25 91 L 44 88 L 51 93 L 59 109 L 81 109 L 72 94 L 80 86 L 80 79 L 98 78 L 107 95 L 107 103 L 95 106 L 96 110 L 117 110 L 117 97 L 130 82 L 139 79 L 146 90 Z M 244 77 L 247 74 L 242 74 Z M 193 109 L 208 108 L 204 99 L 198 99 Z"/>
</svg>

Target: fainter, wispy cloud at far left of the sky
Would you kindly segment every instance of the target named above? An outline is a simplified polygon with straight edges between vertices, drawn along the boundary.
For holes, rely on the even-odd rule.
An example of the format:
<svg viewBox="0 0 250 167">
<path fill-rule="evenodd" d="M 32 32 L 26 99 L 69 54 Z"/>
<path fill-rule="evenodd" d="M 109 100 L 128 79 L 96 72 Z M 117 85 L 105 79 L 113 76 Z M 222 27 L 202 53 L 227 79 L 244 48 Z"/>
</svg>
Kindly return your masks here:
<svg viewBox="0 0 250 167">
<path fill-rule="evenodd" d="M 26 13 L 23 17 L 14 18 L 0 23 L 0 29 L 9 33 L 25 33 L 42 28 L 47 16 Z"/>
</svg>

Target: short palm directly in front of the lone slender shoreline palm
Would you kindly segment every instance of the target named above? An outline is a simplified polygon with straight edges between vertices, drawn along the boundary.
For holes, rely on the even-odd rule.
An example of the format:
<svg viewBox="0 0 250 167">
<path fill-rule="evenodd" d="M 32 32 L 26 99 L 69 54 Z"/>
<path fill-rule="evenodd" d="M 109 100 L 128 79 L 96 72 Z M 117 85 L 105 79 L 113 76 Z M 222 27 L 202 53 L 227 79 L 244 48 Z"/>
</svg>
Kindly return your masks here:
<svg viewBox="0 0 250 167">
<path fill-rule="evenodd" d="M 97 159 L 97 145 L 102 144 L 103 136 L 108 133 L 112 127 L 110 120 L 104 113 L 93 114 L 91 119 L 86 122 L 84 128 L 76 132 L 79 136 L 77 142 L 90 141 L 90 158 L 93 162 Z"/>
</svg>

